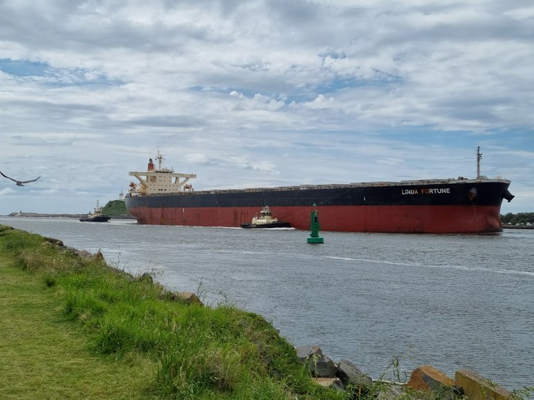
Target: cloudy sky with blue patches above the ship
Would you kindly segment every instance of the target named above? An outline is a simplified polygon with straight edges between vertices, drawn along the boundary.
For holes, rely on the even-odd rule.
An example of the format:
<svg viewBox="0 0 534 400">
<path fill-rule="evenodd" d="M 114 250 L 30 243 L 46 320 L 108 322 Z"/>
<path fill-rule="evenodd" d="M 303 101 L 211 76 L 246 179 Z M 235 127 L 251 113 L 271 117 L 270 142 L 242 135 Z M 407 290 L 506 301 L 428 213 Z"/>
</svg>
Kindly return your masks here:
<svg viewBox="0 0 534 400">
<path fill-rule="evenodd" d="M 525 0 L 0 0 L 0 215 L 88 213 L 158 151 L 195 190 L 476 176 L 534 212 Z M 133 178 L 134 179 L 134 178 Z"/>
</svg>

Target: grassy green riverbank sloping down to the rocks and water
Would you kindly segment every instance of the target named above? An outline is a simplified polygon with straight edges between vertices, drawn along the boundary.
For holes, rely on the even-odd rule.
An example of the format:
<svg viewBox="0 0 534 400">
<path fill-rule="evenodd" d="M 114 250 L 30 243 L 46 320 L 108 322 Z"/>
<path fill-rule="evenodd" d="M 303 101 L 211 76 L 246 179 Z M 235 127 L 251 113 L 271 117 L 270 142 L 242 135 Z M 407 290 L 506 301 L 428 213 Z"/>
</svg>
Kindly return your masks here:
<svg viewBox="0 0 534 400">
<path fill-rule="evenodd" d="M 0 226 L 0 398 L 344 399 L 259 315 Z"/>
</svg>

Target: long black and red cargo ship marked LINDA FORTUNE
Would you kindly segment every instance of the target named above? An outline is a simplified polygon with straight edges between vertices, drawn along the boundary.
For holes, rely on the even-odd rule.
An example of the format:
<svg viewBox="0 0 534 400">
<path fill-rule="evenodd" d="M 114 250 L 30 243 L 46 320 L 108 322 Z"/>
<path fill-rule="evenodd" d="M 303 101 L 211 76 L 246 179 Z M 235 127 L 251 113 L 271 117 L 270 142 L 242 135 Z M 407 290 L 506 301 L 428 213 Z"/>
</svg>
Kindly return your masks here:
<svg viewBox="0 0 534 400">
<path fill-rule="evenodd" d="M 511 201 L 510 181 L 476 178 L 298 185 L 231 190 L 193 189 L 195 174 L 181 174 L 149 160 L 147 171 L 129 172 L 124 197 L 139 224 L 240 227 L 264 204 L 293 228 L 308 230 L 311 212 L 322 231 L 382 233 L 502 232 L 501 203 Z"/>
</svg>

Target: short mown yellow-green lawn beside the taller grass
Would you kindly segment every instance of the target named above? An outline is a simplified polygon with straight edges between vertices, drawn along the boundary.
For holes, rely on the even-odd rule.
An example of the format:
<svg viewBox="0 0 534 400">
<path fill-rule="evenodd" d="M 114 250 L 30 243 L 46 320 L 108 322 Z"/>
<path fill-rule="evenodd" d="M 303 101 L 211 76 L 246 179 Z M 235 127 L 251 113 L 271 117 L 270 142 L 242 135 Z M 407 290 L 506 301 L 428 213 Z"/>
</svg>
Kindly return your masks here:
<svg viewBox="0 0 534 400">
<path fill-rule="evenodd" d="M 42 279 L 0 256 L 0 399 L 149 399 L 154 360 L 90 350 Z M 152 398 L 156 398 L 155 396 Z"/>
</svg>

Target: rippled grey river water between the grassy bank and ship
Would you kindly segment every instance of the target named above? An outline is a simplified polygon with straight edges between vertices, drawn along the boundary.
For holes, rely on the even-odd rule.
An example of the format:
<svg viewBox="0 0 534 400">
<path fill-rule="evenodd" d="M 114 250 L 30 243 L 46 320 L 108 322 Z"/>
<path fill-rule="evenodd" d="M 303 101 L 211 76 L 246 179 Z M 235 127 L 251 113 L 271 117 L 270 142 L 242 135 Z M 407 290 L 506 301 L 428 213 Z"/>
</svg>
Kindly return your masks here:
<svg viewBox="0 0 534 400">
<path fill-rule="evenodd" d="M 493 235 L 143 226 L 0 217 L 63 240 L 209 306 L 259 313 L 295 346 L 316 345 L 373 378 L 418 365 L 534 385 L 534 230 Z"/>
</svg>

